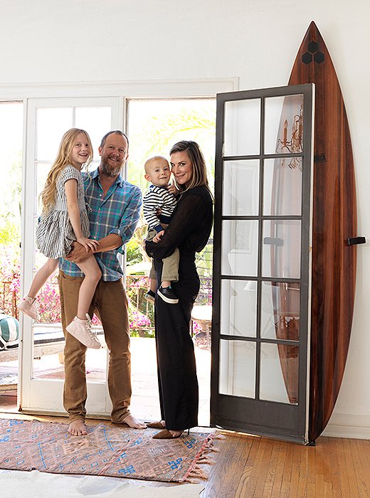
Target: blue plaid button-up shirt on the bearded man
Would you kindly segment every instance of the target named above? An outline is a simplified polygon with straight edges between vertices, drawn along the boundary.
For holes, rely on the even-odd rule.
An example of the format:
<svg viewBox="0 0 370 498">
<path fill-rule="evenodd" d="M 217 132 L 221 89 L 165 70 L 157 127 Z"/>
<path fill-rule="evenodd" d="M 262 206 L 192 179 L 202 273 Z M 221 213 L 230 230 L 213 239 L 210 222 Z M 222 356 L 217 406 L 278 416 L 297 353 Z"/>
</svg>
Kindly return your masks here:
<svg viewBox="0 0 370 498">
<path fill-rule="evenodd" d="M 98 169 L 90 175 L 83 174 L 83 180 L 85 198 L 91 208 L 91 211 L 88 210 L 90 238 L 100 240 L 110 233 L 117 233 L 122 238 L 120 248 L 95 254 L 102 270 L 102 280 L 106 282 L 119 280 L 123 276 L 123 270 L 118 260 L 118 253 L 125 253 L 122 246 L 132 238 L 139 221 L 142 192 L 139 187 L 129 184 L 119 175 L 103 198 Z M 83 277 L 80 268 L 67 260 L 60 258 L 59 267 L 65 275 Z"/>
</svg>

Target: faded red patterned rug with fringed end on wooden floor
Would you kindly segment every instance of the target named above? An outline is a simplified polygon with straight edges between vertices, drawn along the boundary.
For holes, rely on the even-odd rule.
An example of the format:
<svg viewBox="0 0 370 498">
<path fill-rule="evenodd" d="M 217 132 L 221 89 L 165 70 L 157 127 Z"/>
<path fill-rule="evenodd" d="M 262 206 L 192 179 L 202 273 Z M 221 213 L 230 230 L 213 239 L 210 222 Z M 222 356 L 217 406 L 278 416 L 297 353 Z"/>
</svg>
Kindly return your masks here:
<svg viewBox="0 0 370 498">
<path fill-rule="evenodd" d="M 68 434 L 68 425 L 37 420 L 0 420 L 0 468 L 62 474 L 107 475 L 164 482 L 206 476 L 214 434 L 190 433 L 152 439 L 152 429 L 100 423 L 88 435 Z"/>
</svg>

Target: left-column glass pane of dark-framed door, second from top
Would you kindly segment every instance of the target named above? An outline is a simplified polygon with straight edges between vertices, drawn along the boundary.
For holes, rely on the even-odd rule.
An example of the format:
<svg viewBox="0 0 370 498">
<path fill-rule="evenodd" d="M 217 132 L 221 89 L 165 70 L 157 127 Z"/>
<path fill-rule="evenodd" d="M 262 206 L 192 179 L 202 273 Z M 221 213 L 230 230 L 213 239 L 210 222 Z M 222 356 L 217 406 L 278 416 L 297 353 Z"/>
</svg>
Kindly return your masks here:
<svg viewBox="0 0 370 498">
<path fill-rule="evenodd" d="M 259 161 L 224 161 L 224 216 L 257 216 L 259 193 Z"/>
</svg>

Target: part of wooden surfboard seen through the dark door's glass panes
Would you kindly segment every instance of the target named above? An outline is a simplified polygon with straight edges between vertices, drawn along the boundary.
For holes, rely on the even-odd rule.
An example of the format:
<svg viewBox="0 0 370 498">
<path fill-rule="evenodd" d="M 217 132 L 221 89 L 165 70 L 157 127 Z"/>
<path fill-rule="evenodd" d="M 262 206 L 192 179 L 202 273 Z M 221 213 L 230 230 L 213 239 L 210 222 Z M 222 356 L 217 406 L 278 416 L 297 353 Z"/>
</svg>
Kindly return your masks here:
<svg viewBox="0 0 370 498">
<path fill-rule="evenodd" d="M 284 97 L 275 152 L 302 154 L 303 95 Z M 302 157 L 277 158 L 274 161 L 271 192 L 271 214 L 300 216 L 302 214 Z M 300 223 L 280 220 L 270 222 L 272 240 L 284 240 L 282 248 L 271 245 L 273 277 L 300 277 Z M 283 246 L 290 250 L 283 249 Z M 283 250 L 280 250 L 283 249 Z M 287 274 L 287 272 L 289 272 Z M 275 337 L 300 340 L 300 284 L 272 282 Z M 277 344 L 282 377 L 289 403 L 297 404 L 299 393 L 299 346 Z"/>
</svg>

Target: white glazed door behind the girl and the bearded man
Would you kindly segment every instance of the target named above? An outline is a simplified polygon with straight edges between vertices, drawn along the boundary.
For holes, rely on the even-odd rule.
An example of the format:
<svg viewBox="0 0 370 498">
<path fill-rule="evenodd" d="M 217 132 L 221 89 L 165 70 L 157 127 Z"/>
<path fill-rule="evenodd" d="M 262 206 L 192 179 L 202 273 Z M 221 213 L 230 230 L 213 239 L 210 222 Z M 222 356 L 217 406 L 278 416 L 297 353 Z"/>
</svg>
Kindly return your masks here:
<svg viewBox="0 0 370 498">
<path fill-rule="evenodd" d="M 86 129 L 94 148 L 94 163 L 99 164 L 97 148 L 100 139 L 110 129 L 122 129 L 120 97 L 30 99 L 27 107 L 26 161 L 23 174 L 22 208 L 22 290 L 26 294 L 33 275 L 45 262 L 45 257 L 35 249 L 35 229 L 41 209 L 38 196 L 43 189 L 46 175 L 58 152 L 60 139 L 71 127 Z M 59 292 L 56 277 L 51 277 L 41 290 L 38 302 L 40 322 L 21 317 L 21 344 L 18 402 L 21 410 L 31 413 L 65 413 L 63 409 L 63 356 L 48 354 L 51 364 L 40 369 L 39 359 L 33 356 L 63 351 L 63 332 L 59 318 Z M 40 351 L 40 353 L 38 352 Z M 93 356 L 95 354 L 95 356 Z M 97 358 L 100 354 L 100 358 Z M 60 360 L 60 361 L 59 361 Z M 107 351 L 89 350 L 89 362 L 102 363 L 107 371 Z M 101 378 L 101 376 L 100 376 Z M 110 413 L 110 398 L 105 381 L 94 381 L 88 376 L 89 415 L 100 417 Z"/>
</svg>

